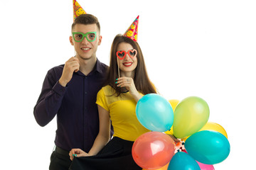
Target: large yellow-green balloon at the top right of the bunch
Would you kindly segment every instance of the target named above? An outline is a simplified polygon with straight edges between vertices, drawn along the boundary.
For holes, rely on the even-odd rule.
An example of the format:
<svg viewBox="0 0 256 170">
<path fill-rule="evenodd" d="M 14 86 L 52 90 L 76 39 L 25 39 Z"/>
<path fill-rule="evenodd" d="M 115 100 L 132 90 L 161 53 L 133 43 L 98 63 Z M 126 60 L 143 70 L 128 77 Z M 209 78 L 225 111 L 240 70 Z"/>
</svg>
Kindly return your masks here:
<svg viewBox="0 0 256 170">
<path fill-rule="evenodd" d="M 181 139 L 198 132 L 208 122 L 209 115 L 209 106 L 202 98 L 183 99 L 174 111 L 174 136 Z"/>
</svg>

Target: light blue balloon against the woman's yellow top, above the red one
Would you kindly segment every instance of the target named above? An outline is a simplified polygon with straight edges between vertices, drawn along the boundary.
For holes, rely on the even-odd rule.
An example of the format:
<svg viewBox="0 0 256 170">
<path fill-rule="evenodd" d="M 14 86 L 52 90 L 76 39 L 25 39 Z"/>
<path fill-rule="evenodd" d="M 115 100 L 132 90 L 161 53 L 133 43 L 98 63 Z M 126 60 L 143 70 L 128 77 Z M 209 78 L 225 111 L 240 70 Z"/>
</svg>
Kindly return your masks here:
<svg viewBox="0 0 256 170">
<path fill-rule="evenodd" d="M 174 123 L 171 104 L 158 94 L 146 94 L 139 99 L 136 115 L 145 128 L 156 132 L 166 132 Z"/>
</svg>

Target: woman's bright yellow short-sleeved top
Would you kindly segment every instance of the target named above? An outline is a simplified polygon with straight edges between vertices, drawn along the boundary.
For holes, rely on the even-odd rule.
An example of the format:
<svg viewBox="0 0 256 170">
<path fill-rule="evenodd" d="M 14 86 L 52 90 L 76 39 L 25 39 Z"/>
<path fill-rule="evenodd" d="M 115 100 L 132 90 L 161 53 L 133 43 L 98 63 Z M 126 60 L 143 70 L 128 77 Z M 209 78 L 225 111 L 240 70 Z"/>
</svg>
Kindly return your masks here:
<svg viewBox="0 0 256 170">
<path fill-rule="evenodd" d="M 137 137 L 149 132 L 139 123 L 135 113 L 136 101 L 129 94 L 123 93 L 117 97 L 111 86 L 104 86 L 97 94 L 96 103 L 110 113 L 112 126 L 114 128 L 114 137 L 120 137 L 123 140 L 135 141 Z"/>
</svg>

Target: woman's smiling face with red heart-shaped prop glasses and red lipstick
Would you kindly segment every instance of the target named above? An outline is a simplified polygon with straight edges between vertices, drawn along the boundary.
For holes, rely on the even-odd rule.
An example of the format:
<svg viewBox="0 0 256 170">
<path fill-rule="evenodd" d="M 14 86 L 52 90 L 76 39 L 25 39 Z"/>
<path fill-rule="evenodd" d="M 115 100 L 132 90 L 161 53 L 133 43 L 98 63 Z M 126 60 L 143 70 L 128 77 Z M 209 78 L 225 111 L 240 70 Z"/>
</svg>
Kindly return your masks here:
<svg viewBox="0 0 256 170">
<path fill-rule="evenodd" d="M 137 67 L 137 50 L 127 42 L 121 42 L 117 46 L 117 62 L 120 73 L 134 73 Z"/>
</svg>

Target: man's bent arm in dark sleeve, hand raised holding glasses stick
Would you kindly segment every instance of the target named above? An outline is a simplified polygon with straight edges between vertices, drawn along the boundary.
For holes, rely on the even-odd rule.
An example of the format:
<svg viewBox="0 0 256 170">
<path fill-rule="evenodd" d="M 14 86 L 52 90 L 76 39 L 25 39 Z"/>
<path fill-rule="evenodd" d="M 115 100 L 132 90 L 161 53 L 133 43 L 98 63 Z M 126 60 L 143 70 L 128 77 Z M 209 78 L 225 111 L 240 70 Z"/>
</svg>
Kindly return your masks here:
<svg viewBox="0 0 256 170">
<path fill-rule="evenodd" d="M 34 116 L 38 125 L 47 125 L 58 113 L 67 89 L 66 85 L 72 79 L 73 73 L 78 72 L 79 67 L 78 58 L 71 57 L 65 62 L 63 70 L 50 69 L 43 81 L 41 95 L 34 108 Z"/>
</svg>

